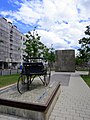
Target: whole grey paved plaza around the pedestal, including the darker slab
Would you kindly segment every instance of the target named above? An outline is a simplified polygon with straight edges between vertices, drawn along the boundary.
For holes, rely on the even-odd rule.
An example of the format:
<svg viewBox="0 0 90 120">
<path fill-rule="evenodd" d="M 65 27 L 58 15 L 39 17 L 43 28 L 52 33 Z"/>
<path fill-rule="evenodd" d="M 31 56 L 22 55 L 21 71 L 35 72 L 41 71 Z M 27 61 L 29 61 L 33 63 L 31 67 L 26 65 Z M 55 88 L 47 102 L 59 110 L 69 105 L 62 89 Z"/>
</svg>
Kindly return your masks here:
<svg viewBox="0 0 90 120">
<path fill-rule="evenodd" d="M 61 94 L 49 120 L 90 120 L 90 88 L 80 77 L 88 73 L 52 72 L 54 74 L 61 82 Z M 0 120 L 26 119 L 0 114 Z"/>
</svg>

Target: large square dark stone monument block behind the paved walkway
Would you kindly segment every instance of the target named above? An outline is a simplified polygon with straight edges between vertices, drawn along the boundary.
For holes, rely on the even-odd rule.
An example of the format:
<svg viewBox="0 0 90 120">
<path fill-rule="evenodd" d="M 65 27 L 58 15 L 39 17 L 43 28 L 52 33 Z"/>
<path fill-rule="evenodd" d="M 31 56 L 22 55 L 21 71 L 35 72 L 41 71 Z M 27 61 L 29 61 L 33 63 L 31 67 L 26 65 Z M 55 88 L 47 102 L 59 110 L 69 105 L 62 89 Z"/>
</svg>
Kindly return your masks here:
<svg viewBox="0 0 90 120">
<path fill-rule="evenodd" d="M 75 50 L 56 50 L 55 71 L 75 72 Z"/>
</svg>

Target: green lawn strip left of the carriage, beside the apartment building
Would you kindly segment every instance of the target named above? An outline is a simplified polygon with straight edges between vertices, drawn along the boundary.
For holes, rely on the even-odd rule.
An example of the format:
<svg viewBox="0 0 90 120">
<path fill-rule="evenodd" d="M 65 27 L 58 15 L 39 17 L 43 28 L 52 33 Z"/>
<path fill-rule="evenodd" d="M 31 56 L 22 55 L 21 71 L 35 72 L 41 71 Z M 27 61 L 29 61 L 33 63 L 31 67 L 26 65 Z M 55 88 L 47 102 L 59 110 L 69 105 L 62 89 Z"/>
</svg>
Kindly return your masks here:
<svg viewBox="0 0 90 120">
<path fill-rule="evenodd" d="M 16 83 L 18 80 L 18 77 L 19 77 L 19 74 L 0 76 L 0 88 Z"/>
</svg>

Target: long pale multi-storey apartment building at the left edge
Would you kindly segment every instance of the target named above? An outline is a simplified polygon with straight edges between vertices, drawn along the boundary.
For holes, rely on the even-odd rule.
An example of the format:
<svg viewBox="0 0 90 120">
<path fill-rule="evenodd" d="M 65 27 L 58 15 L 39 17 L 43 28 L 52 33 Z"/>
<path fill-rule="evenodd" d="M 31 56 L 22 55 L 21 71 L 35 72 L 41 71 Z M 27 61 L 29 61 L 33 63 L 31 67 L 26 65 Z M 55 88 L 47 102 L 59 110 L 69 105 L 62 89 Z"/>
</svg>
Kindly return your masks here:
<svg viewBox="0 0 90 120">
<path fill-rule="evenodd" d="M 0 68 L 16 68 L 22 62 L 25 36 L 15 25 L 0 18 Z"/>
</svg>

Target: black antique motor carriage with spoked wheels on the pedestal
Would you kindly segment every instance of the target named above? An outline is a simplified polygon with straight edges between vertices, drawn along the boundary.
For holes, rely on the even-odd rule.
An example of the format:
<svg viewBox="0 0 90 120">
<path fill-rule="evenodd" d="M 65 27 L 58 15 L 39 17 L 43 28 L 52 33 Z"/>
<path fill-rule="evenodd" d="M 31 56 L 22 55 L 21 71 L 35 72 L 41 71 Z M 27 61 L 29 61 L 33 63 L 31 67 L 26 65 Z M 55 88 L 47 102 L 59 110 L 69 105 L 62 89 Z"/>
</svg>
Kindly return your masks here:
<svg viewBox="0 0 90 120">
<path fill-rule="evenodd" d="M 29 90 L 30 85 L 38 77 L 43 85 L 50 82 L 51 69 L 49 63 L 41 57 L 32 57 L 29 62 L 24 62 L 22 71 L 17 81 L 17 90 L 20 94 Z"/>
</svg>

